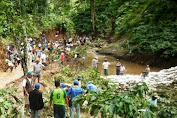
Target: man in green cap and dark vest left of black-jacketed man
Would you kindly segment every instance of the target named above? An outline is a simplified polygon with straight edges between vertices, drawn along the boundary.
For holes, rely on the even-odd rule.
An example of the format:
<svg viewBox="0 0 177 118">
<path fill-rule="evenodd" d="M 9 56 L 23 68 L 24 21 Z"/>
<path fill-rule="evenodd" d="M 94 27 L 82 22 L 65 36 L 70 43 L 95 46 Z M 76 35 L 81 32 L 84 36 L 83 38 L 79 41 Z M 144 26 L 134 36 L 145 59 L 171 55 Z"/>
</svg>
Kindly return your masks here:
<svg viewBox="0 0 177 118">
<path fill-rule="evenodd" d="M 23 79 L 23 93 L 24 93 L 24 100 L 25 100 L 25 107 L 26 112 L 29 112 L 29 100 L 28 95 L 31 91 L 33 91 L 33 82 L 32 82 L 33 72 L 29 71 L 27 73 L 27 77 Z"/>
</svg>

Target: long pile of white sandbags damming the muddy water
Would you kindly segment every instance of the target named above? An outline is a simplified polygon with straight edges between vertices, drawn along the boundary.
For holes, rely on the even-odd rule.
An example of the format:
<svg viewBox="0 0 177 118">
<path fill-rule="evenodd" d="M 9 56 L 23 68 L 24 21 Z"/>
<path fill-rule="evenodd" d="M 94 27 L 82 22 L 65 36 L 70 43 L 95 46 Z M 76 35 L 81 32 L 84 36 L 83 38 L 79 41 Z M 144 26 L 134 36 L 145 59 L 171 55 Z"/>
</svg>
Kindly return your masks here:
<svg viewBox="0 0 177 118">
<path fill-rule="evenodd" d="M 171 84 L 174 80 L 177 80 L 177 66 L 169 69 L 163 69 L 159 72 L 150 72 L 145 78 L 141 75 L 111 75 L 107 77 L 111 79 L 115 84 L 132 86 L 135 83 L 146 82 L 151 88 L 156 88 L 159 84 Z"/>
</svg>

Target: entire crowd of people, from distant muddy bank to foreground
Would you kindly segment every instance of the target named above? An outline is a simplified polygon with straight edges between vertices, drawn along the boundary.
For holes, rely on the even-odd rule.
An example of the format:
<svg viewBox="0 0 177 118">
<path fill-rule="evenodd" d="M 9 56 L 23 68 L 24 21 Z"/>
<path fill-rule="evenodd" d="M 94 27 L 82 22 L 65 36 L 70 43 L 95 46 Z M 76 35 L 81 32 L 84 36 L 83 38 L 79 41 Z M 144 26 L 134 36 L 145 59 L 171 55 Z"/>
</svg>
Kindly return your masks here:
<svg viewBox="0 0 177 118">
<path fill-rule="evenodd" d="M 58 37 L 59 32 L 57 31 L 55 37 Z M 76 43 L 79 45 L 84 45 L 90 38 L 88 37 L 77 37 Z M 60 61 L 61 65 L 64 66 L 65 62 L 65 53 L 69 53 L 71 51 L 71 47 L 73 46 L 73 38 L 69 38 L 68 40 L 58 40 L 58 41 L 47 41 L 45 34 L 42 35 L 42 40 L 37 41 L 35 39 L 29 38 L 27 41 L 27 55 L 28 62 L 27 65 L 33 64 L 33 71 L 29 71 L 27 76 L 23 79 L 22 86 L 25 98 L 25 106 L 27 113 L 29 112 L 29 108 L 31 109 L 31 118 L 40 118 L 41 110 L 44 108 L 43 96 L 42 92 L 39 91 L 41 87 L 41 71 L 46 70 L 47 60 L 50 54 L 56 53 L 58 54 L 56 61 Z M 24 53 L 24 45 L 21 43 L 20 51 Z M 47 53 L 49 52 L 49 53 Z M 17 49 L 15 46 L 7 46 L 7 55 L 8 59 L 6 59 L 7 71 L 10 68 L 10 71 L 13 71 L 13 68 L 16 68 L 20 62 L 21 58 L 17 53 Z M 75 54 L 74 58 L 77 58 L 77 54 Z M 85 57 L 82 57 L 83 64 L 86 61 Z M 93 58 L 92 60 L 92 68 L 98 69 L 99 60 L 98 57 Z M 109 66 L 111 63 L 104 59 L 102 63 L 102 69 L 104 70 L 104 75 L 109 75 Z M 116 75 L 123 75 L 126 71 L 125 66 L 121 64 L 120 60 L 117 59 L 115 64 L 116 67 Z M 23 68 L 23 67 L 22 67 Z M 147 65 L 145 70 L 145 75 L 147 76 L 150 72 L 150 68 Z M 69 107 L 70 117 L 74 118 L 74 109 L 76 109 L 77 118 L 80 118 L 80 104 L 74 104 L 72 102 L 73 98 L 80 94 L 87 94 L 89 91 L 98 92 L 97 86 L 92 82 L 88 82 L 86 93 L 83 92 L 81 88 L 82 76 L 78 76 L 77 80 L 73 82 L 73 86 L 67 86 L 64 83 L 60 83 L 59 81 L 55 81 L 55 89 L 51 91 L 50 95 L 50 106 L 49 109 L 52 108 L 54 111 L 54 118 L 65 118 L 65 109 Z M 153 104 L 154 98 L 150 100 Z"/>
</svg>

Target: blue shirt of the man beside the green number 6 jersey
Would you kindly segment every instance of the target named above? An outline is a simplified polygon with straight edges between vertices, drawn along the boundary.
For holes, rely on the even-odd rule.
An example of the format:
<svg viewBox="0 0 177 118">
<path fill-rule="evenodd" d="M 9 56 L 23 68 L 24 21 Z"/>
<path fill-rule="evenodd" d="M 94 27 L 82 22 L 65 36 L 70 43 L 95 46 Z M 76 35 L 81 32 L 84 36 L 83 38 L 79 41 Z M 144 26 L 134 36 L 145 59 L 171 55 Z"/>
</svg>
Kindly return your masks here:
<svg viewBox="0 0 177 118">
<path fill-rule="evenodd" d="M 83 94 L 83 90 L 82 88 L 78 87 L 78 86 L 74 86 L 74 87 L 71 87 L 69 88 L 68 92 L 67 92 L 67 95 L 71 95 L 71 100 L 78 96 L 79 94 Z"/>
</svg>

